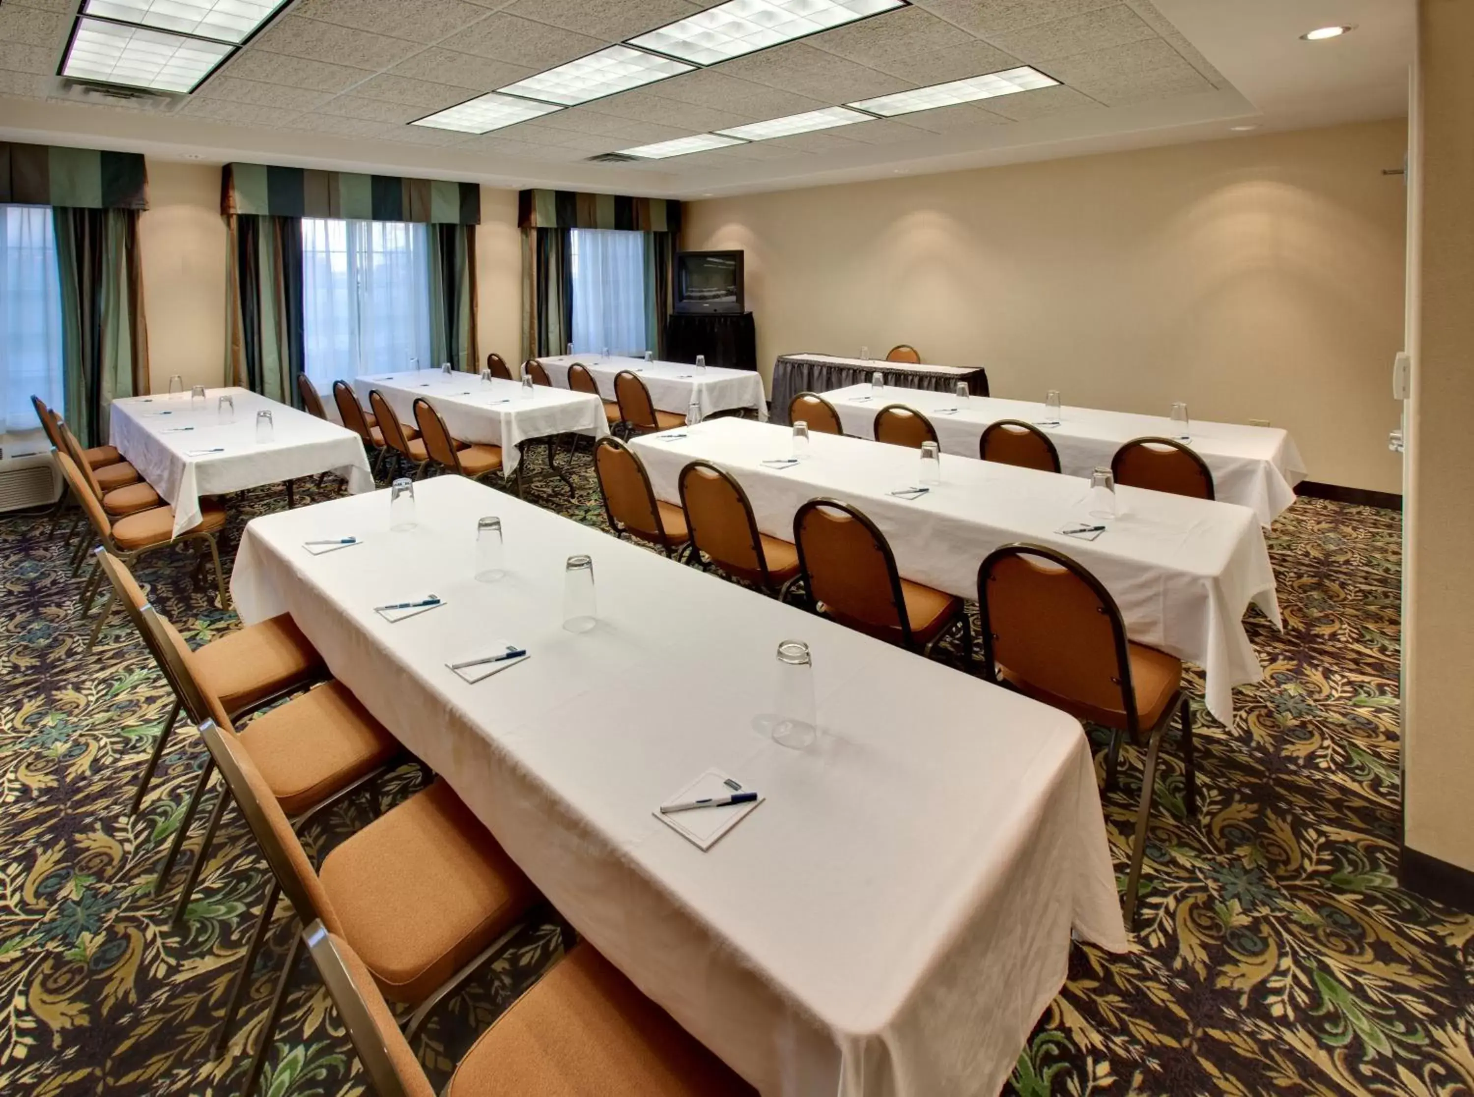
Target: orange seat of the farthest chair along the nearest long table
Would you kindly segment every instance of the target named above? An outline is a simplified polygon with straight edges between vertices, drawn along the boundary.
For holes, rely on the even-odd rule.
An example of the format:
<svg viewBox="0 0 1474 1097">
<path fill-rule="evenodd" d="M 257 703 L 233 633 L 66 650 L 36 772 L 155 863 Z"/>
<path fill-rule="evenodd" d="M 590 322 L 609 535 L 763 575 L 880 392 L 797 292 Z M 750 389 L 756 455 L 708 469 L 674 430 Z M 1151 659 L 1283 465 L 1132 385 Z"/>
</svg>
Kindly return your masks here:
<svg viewBox="0 0 1474 1097">
<path fill-rule="evenodd" d="M 192 654 L 190 666 L 231 714 L 323 673 L 323 658 L 286 613 L 212 639 Z"/>
</svg>

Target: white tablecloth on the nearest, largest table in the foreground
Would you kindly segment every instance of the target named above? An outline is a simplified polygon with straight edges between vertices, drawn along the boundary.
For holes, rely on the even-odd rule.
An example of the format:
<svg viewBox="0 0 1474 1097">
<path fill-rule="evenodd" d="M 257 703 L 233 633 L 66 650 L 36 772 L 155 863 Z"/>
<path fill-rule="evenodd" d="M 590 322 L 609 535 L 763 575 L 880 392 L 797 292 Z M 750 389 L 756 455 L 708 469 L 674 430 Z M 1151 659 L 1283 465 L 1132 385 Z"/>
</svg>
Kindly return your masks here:
<svg viewBox="0 0 1474 1097">
<path fill-rule="evenodd" d="M 996 1093 L 1063 985 L 1070 931 L 1126 947 L 1100 797 L 1063 713 L 460 477 L 254 520 L 246 621 L 290 611 L 553 904 L 765 1094 Z M 510 573 L 470 579 L 476 517 Z M 308 537 L 364 545 L 310 555 Z M 598 626 L 562 626 L 588 552 Z M 389 624 L 374 605 L 433 592 Z M 774 651 L 814 651 L 824 733 L 753 727 Z M 497 639 L 531 658 L 445 669 Z M 652 811 L 716 767 L 766 800 L 702 853 Z"/>
</svg>

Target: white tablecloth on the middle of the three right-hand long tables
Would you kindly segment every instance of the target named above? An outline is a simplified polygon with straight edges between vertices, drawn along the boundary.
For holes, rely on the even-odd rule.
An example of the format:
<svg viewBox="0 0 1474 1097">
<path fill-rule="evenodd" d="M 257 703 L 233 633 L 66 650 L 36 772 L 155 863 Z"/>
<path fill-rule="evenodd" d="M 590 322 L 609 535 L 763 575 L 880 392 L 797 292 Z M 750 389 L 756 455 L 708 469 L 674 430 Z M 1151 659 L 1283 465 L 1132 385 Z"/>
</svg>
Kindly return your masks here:
<svg viewBox="0 0 1474 1097">
<path fill-rule="evenodd" d="M 977 598 L 977 565 L 999 545 L 1051 545 L 1106 585 L 1132 639 L 1207 671 L 1207 708 L 1223 723 L 1232 722 L 1232 686 L 1262 676 L 1244 610 L 1254 602 L 1279 623 L 1265 535 L 1246 507 L 1120 487 L 1120 517 L 1091 542 L 1057 533 L 1086 517 L 1089 482 L 1072 476 L 943 456 L 942 483 L 908 502 L 890 495 L 920 473 L 918 451 L 904 446 L 814 434 L 808 459 L 775 470 L 762 461 L 790 455 L 789 428 L 741 420 L 632 445 L 666 502 L 680 505 L 681 468 L 705 458 L 747 490 L 758 529 L 784 540 L 793 540 L 793 515 L 808 499 L 853 504 L 886 535 L 902 576 L 961 598 Z"/>
</svg>

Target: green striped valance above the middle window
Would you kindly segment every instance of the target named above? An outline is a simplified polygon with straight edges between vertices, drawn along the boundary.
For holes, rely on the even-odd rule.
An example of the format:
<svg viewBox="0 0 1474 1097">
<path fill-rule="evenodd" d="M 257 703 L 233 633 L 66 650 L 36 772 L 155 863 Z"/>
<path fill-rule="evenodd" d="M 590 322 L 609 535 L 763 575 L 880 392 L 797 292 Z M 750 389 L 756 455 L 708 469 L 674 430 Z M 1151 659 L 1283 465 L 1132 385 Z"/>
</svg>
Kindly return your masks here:
<svg viewBox="0 0 1474 1097">
<path fill-rule="evenodd" d="M 220 212 L 479 225 L 481 186 L 349 171 L 227 163 Z"/>
</svg>

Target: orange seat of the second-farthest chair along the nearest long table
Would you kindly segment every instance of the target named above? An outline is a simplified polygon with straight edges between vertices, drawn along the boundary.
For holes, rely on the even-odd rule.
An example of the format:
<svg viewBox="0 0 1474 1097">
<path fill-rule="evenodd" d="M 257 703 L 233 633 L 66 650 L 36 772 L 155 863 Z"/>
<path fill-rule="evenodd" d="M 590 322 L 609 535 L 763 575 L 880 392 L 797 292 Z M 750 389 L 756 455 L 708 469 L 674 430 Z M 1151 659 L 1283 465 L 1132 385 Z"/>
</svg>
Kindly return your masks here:
<svg viewBox="0 0 1474 1097">
<path fill-rule="evenodd" d="M 240 732 L 240 742 L 289 816 L 317 807 L 399 752 L 336 679 L 262 713 Z"/>
</svg>

